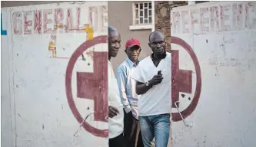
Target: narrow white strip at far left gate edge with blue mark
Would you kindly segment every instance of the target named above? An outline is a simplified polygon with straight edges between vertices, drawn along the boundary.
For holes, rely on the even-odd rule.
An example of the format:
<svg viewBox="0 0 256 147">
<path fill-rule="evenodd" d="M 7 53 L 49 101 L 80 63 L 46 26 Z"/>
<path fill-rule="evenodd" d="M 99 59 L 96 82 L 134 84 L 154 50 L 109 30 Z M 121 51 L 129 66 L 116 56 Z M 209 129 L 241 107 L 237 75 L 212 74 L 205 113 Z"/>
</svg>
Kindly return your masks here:
<svg viewBox="0 0 256 147">
<path fill-rule="evenodd" d="M 12 106 L 11 99 L 11 81 L 12 72 L 12 53 L 8 51 L 8 43 L 11 41 L 8 38 L 8 21 L 10 15 L 7 8 L 2 8 L 1 10 L 1 128 L 2 128 L 2 136 L 1 142 L 3 146 L 13 146 L 15 132 L 14 132 L 14 109 Z"/>
</svg>

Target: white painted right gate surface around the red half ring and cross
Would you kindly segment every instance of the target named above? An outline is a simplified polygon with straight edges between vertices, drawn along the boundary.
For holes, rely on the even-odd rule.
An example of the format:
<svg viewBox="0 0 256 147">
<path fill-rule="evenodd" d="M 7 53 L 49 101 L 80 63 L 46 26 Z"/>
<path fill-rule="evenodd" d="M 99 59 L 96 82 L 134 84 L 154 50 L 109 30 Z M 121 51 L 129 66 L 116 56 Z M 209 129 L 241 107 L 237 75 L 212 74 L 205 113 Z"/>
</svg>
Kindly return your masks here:
<svg viewBox="0 0 256 147">
<path fill-rule="evenodd" d="M 241 19 L 237 21 L 236 8 L 239 10 L 240 4 Z M 211 15 L 214 7 L 218 12 Z M 224 19 L 220 18 L 221 8 Z M 192 113 L 193 127 L 182 121 L 173 123 L 174 147 L 256 146 L 255 10 L 256 2 L 205 2 L 172 9 L 171 36 L 193 48 L 201 67 L 202 84 L 198 106 Z M 219 25 L 212 20 L 216 13 Z M 193 18 L 198 19 L 194 24 Z M 196 76 L 191 57 L 181 46 L 171 47 L 180 51 L 180 68 L 193 71 L 192 93 L 185 93 L 193 97 Z M 189 103 L 181 102 L 180 109 Z M 186 119 L 187 123 L 190 119 L 191 116 Z"/>
</svg>

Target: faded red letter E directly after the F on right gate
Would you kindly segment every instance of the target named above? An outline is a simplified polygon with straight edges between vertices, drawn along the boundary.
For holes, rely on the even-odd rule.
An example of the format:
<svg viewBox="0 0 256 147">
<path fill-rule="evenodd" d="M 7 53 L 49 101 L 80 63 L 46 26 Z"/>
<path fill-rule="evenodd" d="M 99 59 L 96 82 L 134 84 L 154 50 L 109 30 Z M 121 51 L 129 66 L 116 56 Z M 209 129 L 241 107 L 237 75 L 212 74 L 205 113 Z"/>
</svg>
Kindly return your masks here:
<svg viewBox="0 0 256 147">
<path fill-rule="evenodd" d="M 200 8 L 200 26 L 201 31 L 208 32 L 209 31 L 209 18 L 204 18 L 204 15 L 207 14 L 209 8 Z"/>
</svg>

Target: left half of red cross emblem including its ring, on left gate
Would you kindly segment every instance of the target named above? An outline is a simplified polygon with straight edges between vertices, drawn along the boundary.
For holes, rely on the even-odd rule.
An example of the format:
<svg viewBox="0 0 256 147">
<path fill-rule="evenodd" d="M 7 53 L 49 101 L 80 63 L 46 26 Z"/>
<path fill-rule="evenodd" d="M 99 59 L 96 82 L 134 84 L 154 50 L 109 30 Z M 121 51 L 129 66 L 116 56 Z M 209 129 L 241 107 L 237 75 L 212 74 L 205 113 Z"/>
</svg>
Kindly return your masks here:
<svg viewBox="0 0 256 147">
<path fill-rule="evenodd" d="M 88 48 L 97 44 L 108 43 L 108 36 L 98 36 L 89 41 L 85 41 L 71 55 L 68 61 L 68 67 L 65 76 L 66 95 L 68 105 L 83 128 L 94 136 L 108 138 L 108 129 L 98 129 L 84 121 L 83 116 L 79 113 L 75 106 L 74 96 L 72 94 L 72 73 L 78 57 Z M 77 97 L 94 100 L 95 102 L 95 121 L 108 122 L 108 52 L 93 53 L 93 73 L 76 72 Z"/>
</svg>

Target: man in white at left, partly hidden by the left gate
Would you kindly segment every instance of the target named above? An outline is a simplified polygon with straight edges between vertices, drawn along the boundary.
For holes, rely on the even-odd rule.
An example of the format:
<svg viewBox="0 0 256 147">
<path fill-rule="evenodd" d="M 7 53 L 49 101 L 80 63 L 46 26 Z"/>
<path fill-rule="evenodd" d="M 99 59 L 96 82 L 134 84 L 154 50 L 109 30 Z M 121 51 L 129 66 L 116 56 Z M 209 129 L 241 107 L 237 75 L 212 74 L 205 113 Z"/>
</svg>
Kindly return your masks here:
<svg viewBox="0 0 256 147">
<path fill-rule="evenodd" d="M 124 110 L 121 103 L 118 83 L 111 65 L 111 57 L 116 57 L 121 47 L 118 30 L 108 26 L 108 145 L 109 147 L 125 147 Z"/>
</svg>

